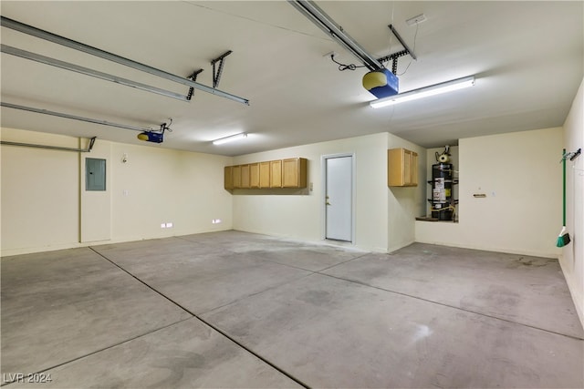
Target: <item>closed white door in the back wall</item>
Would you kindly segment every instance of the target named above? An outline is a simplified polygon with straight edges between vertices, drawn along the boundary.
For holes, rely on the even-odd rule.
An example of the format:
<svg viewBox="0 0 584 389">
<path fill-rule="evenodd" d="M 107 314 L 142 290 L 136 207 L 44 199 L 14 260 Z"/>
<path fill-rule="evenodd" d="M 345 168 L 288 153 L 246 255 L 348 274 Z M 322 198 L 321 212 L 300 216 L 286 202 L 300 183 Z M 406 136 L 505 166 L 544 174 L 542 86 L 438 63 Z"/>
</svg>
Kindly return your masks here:
<svg viewBox="0 0 584 389">
<path fill-rule="evenodd" d="M 353 241 L 353 157 L 325 159 L 326 239 Z"/>
</svg>

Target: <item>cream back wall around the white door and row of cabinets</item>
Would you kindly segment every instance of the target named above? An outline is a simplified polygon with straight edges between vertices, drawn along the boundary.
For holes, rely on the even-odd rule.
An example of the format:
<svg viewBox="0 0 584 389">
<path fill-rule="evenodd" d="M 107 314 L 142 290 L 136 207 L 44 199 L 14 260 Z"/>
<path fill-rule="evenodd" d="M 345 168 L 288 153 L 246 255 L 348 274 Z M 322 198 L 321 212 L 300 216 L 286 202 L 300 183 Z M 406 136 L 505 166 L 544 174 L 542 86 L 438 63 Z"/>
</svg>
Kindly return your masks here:
<svg viewBox="0 0 584 389">
<path fill-rule="evenodd" d="M 388 134 L 333 140 L 282 148 L 235 158 L 235 164 L 300 157 L 308 159 L 308 186 L 313 190 L 234 191 L 234 228 L 303 241 L 320 241 L 324 232 L 321 158 L 354 153 L 356 180 L 355 246 L 387 251 Z"/>
</svg>

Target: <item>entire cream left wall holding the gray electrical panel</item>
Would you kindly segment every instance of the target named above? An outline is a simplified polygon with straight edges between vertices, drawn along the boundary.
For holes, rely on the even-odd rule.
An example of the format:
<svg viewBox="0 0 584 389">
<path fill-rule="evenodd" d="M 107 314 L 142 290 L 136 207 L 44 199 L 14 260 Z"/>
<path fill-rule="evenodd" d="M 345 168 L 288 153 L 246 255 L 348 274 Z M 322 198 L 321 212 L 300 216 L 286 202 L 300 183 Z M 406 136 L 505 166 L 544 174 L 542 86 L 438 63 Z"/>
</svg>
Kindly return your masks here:
<svg viewBox="0 0 584 389">
<path fill-rule="evenodd" d="M 79 147 L 78 138 L 16 129 L 3 129 L 2 139 Z M 223 189 L 230 157 L 99 139 L 80 155 L 6 145 L 0 150 L 3 256 L 233 227 L 231 195 Z M 85 191 L 87 157 L 106 159 L 105 192 Z M 162 229 L 162 222 L 173 227 Z"/>
</svg>

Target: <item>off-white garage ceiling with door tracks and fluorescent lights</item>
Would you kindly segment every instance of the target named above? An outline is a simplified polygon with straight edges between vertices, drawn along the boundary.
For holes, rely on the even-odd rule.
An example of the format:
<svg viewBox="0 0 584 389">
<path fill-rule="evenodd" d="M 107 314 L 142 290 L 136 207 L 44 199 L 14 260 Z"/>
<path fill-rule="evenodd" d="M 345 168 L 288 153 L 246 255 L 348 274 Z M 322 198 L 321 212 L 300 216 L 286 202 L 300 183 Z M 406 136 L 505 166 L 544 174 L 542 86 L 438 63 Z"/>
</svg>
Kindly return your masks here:
<svg viewBox="0 0 584 389">
<path fill-rule="evenodd" d="M 584 2 L 318 1 L 374 56 L 401 50 L 396 26 L 417 61 L 400 58 L 400 91 L 475 75 L 474 87 L 373 109 L 366 68 L 285 1 L 2 1 L 1 14 L 182 77 L 233 50 L 219 89 L 250 106 L 195 90 L 182 102 L 2 54 L 2 101 L 158 128 L 154 147 L 241 155 L 389 131 L 423 147 L 459 138 L 561 126 L 584 75 Z M 416 27 L 406 19 L 424 14 Z M 2 43 L 186 95 L 188 88 L 96 56 L 2 27 Z M 415 37 L 415 39 L 414 39 Z M 406 71 L 407 69 L 407 71 Z M 2 107 L 2 126 L 144 144 L 137 132 Z M 250 136 L 214 146 L 238 132 Z"/>
</svg>

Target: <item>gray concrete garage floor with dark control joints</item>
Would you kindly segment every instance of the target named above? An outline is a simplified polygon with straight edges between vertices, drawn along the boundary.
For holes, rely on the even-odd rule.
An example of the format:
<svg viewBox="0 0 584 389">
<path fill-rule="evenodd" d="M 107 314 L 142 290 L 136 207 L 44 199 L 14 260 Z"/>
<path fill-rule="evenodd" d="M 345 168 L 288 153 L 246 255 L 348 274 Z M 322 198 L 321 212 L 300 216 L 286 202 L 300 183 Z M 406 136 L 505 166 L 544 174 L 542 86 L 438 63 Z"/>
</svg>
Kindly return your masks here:
<svg viewBox="0 0 584 389">
<path fill-rule="evenodd" d="M 554 260 L 225 231 L 1 265 L 8 388 L 584 386 Z"/>
</svg>

